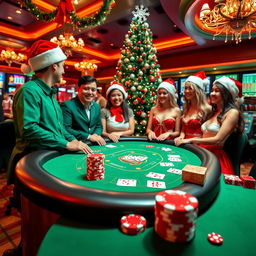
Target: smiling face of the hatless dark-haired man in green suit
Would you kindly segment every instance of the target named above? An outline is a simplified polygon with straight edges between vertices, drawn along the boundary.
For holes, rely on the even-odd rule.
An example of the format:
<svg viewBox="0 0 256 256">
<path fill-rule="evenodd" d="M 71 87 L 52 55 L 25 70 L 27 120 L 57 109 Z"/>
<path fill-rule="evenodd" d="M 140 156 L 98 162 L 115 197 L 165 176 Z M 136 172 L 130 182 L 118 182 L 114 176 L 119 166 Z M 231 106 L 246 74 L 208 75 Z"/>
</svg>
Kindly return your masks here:
<svg viewBox="0 0 256 256">
<path fill-rule="evenodd" d="M 94 101 L 97 92 L 97 84 L 95 82 L 82 84 L 78 88 L 77 96 L 83 104 L 89 104 Z"/>
</svg>

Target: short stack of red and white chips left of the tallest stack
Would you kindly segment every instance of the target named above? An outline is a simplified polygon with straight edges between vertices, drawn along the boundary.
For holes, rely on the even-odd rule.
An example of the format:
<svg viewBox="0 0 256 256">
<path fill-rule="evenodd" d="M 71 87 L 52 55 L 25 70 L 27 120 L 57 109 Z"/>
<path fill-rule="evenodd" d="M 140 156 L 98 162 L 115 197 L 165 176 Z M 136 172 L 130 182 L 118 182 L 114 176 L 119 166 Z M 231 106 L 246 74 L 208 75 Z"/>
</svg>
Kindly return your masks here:
<svg viewBox="0 0 256 256">
<path fill-rule="evenodd" d="M 146 230 L 146 219 L 139 214 L 128 214 L 121 218 L 121 231 L 128 235 L 137 235 Z"/>
</svg>

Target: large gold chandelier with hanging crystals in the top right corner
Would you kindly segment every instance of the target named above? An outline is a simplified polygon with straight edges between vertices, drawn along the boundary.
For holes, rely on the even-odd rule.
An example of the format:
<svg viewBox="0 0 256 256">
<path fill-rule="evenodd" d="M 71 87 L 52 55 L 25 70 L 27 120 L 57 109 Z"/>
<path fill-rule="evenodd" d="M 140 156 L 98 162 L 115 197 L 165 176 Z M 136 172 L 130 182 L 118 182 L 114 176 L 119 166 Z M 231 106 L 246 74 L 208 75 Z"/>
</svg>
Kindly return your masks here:
<svg viewBox="0 0 256 256">
<path fill-rule="evenodd" d="M 256 28 L 255 0 L 215 0 L 216 5 L 210 10 L 204 4 L 200 11 L 200 20 L 207 29 L 214 29 L 213 40 L 216 36 L 232 35 L 232 40 L 238 44 L 242 41 L 243 32 L 251 39 L 251 30 Z"/>
</svg>

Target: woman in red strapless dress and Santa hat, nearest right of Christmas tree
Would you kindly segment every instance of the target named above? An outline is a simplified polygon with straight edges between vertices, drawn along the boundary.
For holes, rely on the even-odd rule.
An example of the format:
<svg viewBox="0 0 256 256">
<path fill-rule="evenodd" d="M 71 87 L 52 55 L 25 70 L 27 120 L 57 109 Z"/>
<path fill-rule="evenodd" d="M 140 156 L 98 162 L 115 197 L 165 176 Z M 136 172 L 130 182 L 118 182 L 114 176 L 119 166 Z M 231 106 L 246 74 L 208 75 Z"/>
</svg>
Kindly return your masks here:
<svg viewBox="0 0 256 256">
<path fill-rule="evenodd" d="M 181 110 L 176 102 L 177 93 L 172 79 L 157 88 L 157 102 L 149 114 L 147 135 L 149 140 L 174 139 L 180 133 Z"/>
</svg>

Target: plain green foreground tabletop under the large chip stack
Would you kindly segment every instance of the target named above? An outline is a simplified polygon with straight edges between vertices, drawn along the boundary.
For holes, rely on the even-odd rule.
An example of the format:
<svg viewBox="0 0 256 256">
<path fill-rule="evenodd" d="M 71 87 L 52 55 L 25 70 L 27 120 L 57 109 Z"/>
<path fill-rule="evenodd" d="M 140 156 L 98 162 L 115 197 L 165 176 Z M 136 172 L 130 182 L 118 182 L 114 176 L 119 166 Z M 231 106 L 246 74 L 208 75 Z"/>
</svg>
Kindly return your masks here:
<svg viewBox="0 0 256 256">
<path fill-rule="evenodd" d="M 136 236 L 121 233 L 118 227 L 91 226 L 61 218 L 43 240 L 38 256 L 253 256 L 256 242 L 256 190 L 227 185 L 209 209 L 197 219 L 196 236 L 189 243 L 174 244 L 159 238 L 152 227 Z M 90 222 L 89 222 L 90 223 Z M 221 246 L 212 245 L 207 234 L 223 236 Z"/>
</svg>

